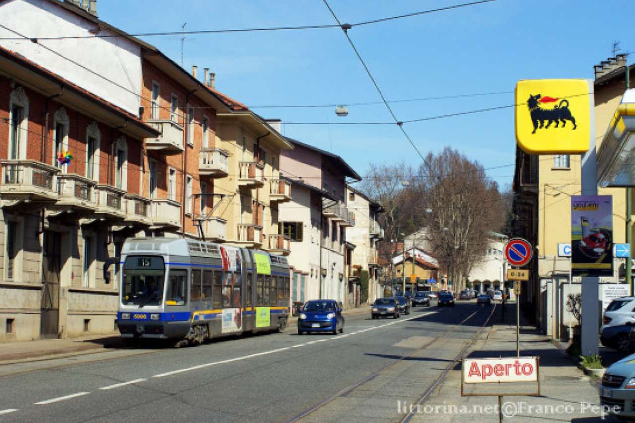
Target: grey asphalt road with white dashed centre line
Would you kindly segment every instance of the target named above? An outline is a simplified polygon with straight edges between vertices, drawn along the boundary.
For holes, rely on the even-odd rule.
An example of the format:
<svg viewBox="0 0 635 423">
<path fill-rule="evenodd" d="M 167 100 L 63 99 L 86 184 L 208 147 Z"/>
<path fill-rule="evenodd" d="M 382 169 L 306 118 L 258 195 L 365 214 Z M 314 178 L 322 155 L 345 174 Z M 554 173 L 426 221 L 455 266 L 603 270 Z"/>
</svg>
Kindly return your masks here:
<svg viewBox="0 0 635 423">
<path fill-rule="evenodd" d="M 0 421 L 399 420 L 491 307 L 349 317 L 343 335 L 231 337 L 0 377 Z M 467 319 L 467 320 L 466 320 Z"/>
</svg>

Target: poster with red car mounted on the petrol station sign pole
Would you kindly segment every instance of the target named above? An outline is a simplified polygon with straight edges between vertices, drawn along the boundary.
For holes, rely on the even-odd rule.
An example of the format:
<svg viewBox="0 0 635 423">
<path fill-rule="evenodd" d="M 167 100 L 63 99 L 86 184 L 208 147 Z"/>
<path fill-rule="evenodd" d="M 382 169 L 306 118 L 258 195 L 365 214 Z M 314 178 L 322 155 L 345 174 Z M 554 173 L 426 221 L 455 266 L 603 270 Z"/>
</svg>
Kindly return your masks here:
<svg viewBox="0 0 635 423">
<path fill-rule="evenodd" d="M 611 196 L 572 196 L 573 276 L 613 275 L 613 201 Z"/>
</svg>

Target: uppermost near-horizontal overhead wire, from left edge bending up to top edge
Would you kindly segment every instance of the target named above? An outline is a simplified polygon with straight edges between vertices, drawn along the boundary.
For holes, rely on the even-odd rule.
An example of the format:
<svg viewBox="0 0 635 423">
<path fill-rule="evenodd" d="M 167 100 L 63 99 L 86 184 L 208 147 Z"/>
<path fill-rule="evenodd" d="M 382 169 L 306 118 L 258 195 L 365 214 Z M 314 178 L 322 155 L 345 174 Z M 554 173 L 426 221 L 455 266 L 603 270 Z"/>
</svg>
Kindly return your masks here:
<svg viewBox="0 0 635 423">
<path fill-rule="evenodd" d="M 445 8 L 437 8 L 431 10 L 418 11 L 413 13 L 406 13 L 405 15 L 397 15 L 386 18 L 379 18 L 374 20 L 366 20 L 358 22 L 357 24 L 345 24 L 348 27 L 358 27 L 363 25 L 378 24 L 380 22 L 388 22 L 391 20 L 410 18 L 419 15 L 427 15 L 429 13 L 436 13 L 440 11 L 447 11 L 452 9 L 464 8 L 468 6 L 475 6 L 477 4 L 490 3 L 496 0 L 482 0 L 474 1 L 472 3 L 455 4 L 454 6 L 448 6 Z M 160 31 L 160 32 L 137 32 L 133 34 L 91 34 L 90 36 L 56 36 L 56 37 L 30 37 L 31 41 L 37 42 L 37 40 L 61 40 L 61 39 L 90 39 L 90 38 L 114 38 L 114 37 L 153 37 L 153 36 L 174 36 L 174 35 L 193 35 L 193 34 L 227 34 L 232 32 L 268 32 L 279 30 L 304 30 L 304 29 L 328 29 L 342 27 L 342 25 L 298 25 L 298 26 L 280 26 L 280 27 L 254 27 L 254 28 L 237 28 L 237 29 L 203 29 L 203 30 L 191 30 L 191 31 Z M 18 37 L 0 37 L 0 40 L 20 40 Z"/>
</svg>

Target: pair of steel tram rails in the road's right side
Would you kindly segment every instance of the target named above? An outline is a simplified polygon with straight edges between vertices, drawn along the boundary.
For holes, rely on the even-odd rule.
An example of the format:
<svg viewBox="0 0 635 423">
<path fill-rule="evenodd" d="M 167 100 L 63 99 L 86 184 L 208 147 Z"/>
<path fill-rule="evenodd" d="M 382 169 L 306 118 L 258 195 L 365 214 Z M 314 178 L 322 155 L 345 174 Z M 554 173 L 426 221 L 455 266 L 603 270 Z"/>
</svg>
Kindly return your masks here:
<svg viewBox="0 0 635 423">
<path fill-rule="evenodd" d="M 481 325 L 479 330 L 469 340 L 467 345 L 465 345 L 465 347 L 457 354 L 457 356 L 455 356 L 455 358 L 452 359 L 451 363 L 448 366 L 446 366 L 446 368 L 443 370 L 443 372 L 441 372 L 441 375 L 439 375 L 439 377 L 437 377 L 434 380 L 434 382 L 432 382 L 432 384 L 429 387 L 427 387 L 427 389 L 425 389 L 424 393 L 422 393 L 418 397 L 417 404 L 422 403 L 423 401 L 425 401 L 430 396 L 430 394 L 432 393 L 434 388 L 439 386 L 439 384 L 443 381 L 443 379 L 445 379 L 446 375 L 451 370 L 451 368 L 453 366 L 455 366 L 456 363 L 458 362 L 458 360 L 463 356 L 463 354 L 465 354 L 465 351 L 467 351 L 467 349 L 469 349 L 469 347 L 472 346 L 472 344 L 474 344 L 474 341 L 478 337 L 479 333 L 481 333 L 483 328 L 485 328 L 485 326 L 489 323 L 489 321 L 491 319 L 491 316 L 493 316 L 496 307 L 497 307 L 496 305 L 494 305 L 492 307 L 490 315 L 485 320 L 485 323 L 483 323 L 483 325 Z M 287 423 L 292 423 L 292 422 L 297 422 L 300 419 L 304 419 L 304 417 L 307 417 L 311 413 L 314 413 L 317 410 L 320 410 L 321 408 L 324 408 L 324 406 L 330 404 L 331 402 L 337 400 L 338 398 L 346 396 L 347 394 L 351 393 L 355 389 L 358 389 L 359 387 L 363 386 L 364 384 L 370 382 L 371 380 L 375 379 L 376 377 L 378 377 L 382 373 L 386 372 L 387 370 L 391 369 L 392 367 L 398 365 L 399 363 L 403 363 L 404 360 L 410 359 L 413 356 L 415 356 L 415 354 L 418 354 L 418 352 L 424 351 L 425 349 L 431 347 L 435 342 L 438 342 L 438 340 L 443 339 L 444 337 L 449 335 L 451 332 L 455 331 L 459 326 L 464 325 L 464 323 L 466 323 L 470 319 L 474 318 L 474 316 L 476 316 L 480 311 L 481 311 L 481 309 L 477 309 L 476 311 L 472 312 L 469 316 L 467 316 L 465 319 L 463 319 L 462 321 L 456 323 L 455 325 L 453 325 L 451 328 L 449 328 L 445 332 L 441 333 L 440 335 L 438 335 L 437 337 L 435 337 L 431 341 L 425 343 L 423 346 L 420 346 L 417 349 L 414 349 L 409 354 L 404 354 L 403 356 L 401 356 L 399 358 L 396 358 L 394 361 L 392 361 L 392 363 L 389 363 L 389 364 L 383 366 L 382 368 L 379 368 L 375 372 L 373 372 L 370 375 L 364 377 L 364 379 L 359 380 L 358 382 L 356 382 L 356 383 L 354 383 L 354 384 L 352 384 L 350 386 L 347 386 L 344 389 L 341 389 L 340 391 L 335 393 L 333 396 L 330 396 L 330 397 L 326 398 L 325 400 L 320 401 L 319 403 L 317 403 L 315 405 L 312 405 L 309 408 L 306 408 L 304 411 L 302 411 L 302 412 L 296 414 L 295 416 L 291 417 L 291 419 L 286 420 L 286 422 Z M 410 412 L 406 413 L 406 415 L 404 415 L 403 418 L 400 419 L 400 421 L 401 422 L 407 422 L 408 420 L 410 420 L 412 415 L 413 414 L 410 413 Z"/>
</svg>

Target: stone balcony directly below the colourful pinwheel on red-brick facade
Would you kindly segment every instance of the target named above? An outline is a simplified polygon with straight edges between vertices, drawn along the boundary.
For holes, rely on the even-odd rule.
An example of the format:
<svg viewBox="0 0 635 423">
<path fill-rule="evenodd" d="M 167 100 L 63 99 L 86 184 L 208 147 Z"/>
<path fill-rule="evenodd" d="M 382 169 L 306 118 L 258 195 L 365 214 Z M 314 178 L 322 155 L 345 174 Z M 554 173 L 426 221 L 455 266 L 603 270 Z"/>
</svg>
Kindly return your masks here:
<svg viewBox="0 0 635 423">
<path fill-rule="evenodd" d="M 58 201 L 53 208 L 91 212 L 97 210 L 95 185 L 97 182 L 77 173 L 57 175 Z"/>
</svg>

